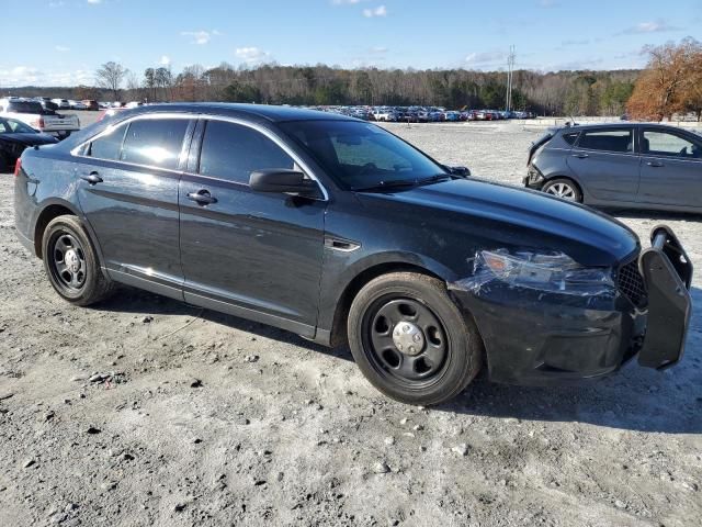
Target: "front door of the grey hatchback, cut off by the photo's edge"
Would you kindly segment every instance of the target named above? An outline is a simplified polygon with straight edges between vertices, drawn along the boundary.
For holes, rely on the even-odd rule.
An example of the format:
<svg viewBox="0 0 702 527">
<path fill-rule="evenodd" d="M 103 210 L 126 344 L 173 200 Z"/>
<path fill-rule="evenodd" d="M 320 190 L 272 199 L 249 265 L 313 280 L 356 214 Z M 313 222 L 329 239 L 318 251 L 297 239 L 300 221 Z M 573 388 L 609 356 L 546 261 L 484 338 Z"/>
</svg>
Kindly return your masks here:
<svg viewBox="0 0 702 527">
<path fill-rule="evenodd" d="M 702 210 L 702 138 L 642 127 L 639 200 Z"/>
</svg>

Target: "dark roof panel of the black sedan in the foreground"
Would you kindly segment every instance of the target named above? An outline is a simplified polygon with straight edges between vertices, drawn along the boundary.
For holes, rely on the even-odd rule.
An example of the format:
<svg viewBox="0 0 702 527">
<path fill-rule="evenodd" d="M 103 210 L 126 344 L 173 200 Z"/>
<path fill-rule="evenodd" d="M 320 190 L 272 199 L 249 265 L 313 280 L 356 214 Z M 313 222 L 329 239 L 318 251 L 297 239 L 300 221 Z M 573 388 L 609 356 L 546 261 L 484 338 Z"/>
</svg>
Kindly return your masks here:
<svg viewBox="0 0 702 527">
<path fill-rule="evenodd" d="M 273 123 L 285 121 L 359 121 L 354 117 L 337 113 L 321 112 L 295 106 L 276 106 L 272 104 L 240 104 L 227 102 L 190 102 L 147 104 L 129 110 L 129 115 L 161 112 L 211 113 L 230 116 L 250 116 Z"/>
</svg>

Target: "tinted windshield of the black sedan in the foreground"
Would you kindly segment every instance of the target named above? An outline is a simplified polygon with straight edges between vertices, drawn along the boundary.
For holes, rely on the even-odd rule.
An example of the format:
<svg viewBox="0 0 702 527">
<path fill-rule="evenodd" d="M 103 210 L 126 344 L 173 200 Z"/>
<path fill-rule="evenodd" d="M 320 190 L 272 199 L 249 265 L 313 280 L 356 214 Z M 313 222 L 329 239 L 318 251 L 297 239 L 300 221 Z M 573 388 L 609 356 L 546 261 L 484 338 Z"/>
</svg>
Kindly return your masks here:
<svg viewBox="0 0 702 527">
<path fill-rule="evenodd" d="M 448 177 L 443 167 L 373 124 L 295 121 L 281 127 L 347 190 Z"/>
</svg>

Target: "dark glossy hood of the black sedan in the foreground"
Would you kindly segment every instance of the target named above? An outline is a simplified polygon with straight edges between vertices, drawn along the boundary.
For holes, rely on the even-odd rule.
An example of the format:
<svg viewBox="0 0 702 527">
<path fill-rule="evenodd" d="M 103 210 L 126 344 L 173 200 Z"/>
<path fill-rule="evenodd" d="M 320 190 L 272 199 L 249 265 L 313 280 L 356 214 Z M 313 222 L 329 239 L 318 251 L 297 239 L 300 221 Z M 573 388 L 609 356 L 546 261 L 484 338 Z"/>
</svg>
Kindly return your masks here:
<svg viewBox="0 0 702 527">
<path fill-rule="evenodd" d="M 362 192 L 359 198 L 369 204 L 381 200 L 409 206 L 414 211 L 409 217 L 430 222 L 432 228 L 460 228 L 476 249 L 559 250 L 584 266 L 615 266 L 639 250 L 638 237 L 607 214 L 487 181 L 452 180 L 396 192 Z"/>
</svg>

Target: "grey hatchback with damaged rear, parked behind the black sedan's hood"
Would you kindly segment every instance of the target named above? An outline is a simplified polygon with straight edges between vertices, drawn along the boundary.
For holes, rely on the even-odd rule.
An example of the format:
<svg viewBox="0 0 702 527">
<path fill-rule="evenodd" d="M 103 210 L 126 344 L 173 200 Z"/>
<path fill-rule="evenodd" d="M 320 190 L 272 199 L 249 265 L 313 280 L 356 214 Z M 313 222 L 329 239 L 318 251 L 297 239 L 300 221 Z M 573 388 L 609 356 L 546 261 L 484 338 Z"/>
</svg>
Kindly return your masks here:
<svg viewBox="0 0 702 527">
<path fill-rule="evenodd" d="M 675 126 L 550 131 L 529 153 L 531 189 L 596 206 L 702 212 L 702 137 Z"/>
</svg>

